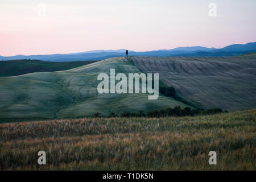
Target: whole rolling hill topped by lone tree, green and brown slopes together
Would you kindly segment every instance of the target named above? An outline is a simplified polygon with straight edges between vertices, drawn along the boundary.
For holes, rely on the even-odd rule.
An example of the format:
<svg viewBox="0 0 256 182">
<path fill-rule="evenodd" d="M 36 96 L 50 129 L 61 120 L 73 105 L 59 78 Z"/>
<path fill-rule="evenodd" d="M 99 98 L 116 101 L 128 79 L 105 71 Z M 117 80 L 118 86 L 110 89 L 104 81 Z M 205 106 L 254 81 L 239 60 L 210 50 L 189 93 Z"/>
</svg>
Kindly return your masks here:
<svg viewBox="0 0 256 182">
<path fill-rule="evenodd" d="M 0 118 L 52 119 L 92 117 L 95 113 L 138 113 L 186 104 L 160 95 L 98 94 L 99 73 L 159 73 L 186 103 L 209 109 L 256 107 L 256 56 L 117 57 L 69 69 L 0 77 Z"/>
</svg>

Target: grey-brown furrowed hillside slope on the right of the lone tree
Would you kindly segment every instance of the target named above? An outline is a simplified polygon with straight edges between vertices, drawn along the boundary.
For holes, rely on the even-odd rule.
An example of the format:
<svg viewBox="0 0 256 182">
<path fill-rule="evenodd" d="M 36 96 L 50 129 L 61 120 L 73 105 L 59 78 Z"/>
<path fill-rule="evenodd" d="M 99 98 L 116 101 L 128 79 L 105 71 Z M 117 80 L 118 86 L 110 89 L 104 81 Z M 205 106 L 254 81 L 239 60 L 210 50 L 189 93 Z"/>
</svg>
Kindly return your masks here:
<svg viewBox="0 0 256 182">
<path fill-rule="evenodd" d="M 131 57 L 136 67 L 159 73 L 185 100 L 205 109 L 256 107 L 256 56 Z"/>
</svg>

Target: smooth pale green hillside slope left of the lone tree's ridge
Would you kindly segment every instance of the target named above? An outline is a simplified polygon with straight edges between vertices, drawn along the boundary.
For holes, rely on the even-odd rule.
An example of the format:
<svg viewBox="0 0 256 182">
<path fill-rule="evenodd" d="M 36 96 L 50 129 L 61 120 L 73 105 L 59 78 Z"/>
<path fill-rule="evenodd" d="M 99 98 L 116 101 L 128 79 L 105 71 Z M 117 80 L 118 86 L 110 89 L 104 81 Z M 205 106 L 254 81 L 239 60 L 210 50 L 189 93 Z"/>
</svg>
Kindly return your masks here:
<svg viewBox="0 0 256 182">
<path fill-rule="evenodd" d="M 68 71 L 40 72 L 0 77 L 0 118 L 71 118 L 91 117 L 94 113 L 149 111 L 177 105 L 172 98 L 159 96 L 148 100 L 148 94 L 98 94 L 99 73 L 139 73 L 125 57 L 98 61 Z M 1 120 L 0 120 L 1 121 Z"/>
</svg>

